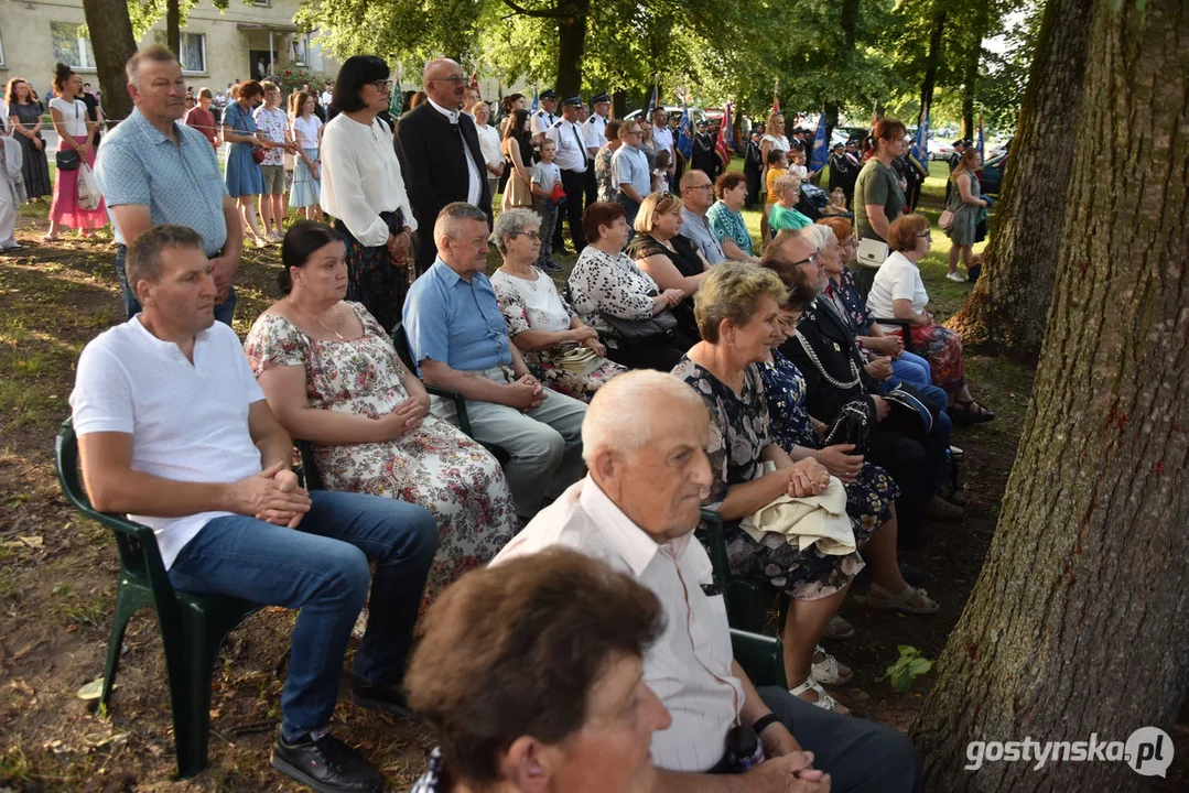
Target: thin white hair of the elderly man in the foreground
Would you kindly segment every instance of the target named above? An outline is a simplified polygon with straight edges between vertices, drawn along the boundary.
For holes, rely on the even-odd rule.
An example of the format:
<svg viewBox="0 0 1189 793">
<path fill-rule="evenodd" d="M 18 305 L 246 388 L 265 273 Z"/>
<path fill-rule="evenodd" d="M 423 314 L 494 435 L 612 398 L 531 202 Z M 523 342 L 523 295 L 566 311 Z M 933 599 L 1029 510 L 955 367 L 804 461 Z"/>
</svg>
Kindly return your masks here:
<svg viewBox="0 0 1189 793">
<path fill-rule="evenodd" d="M 600 449 L 638 449 L 652 440 L 655 416 L 673 402 L 705 410 L 698 392 L 668 372 L 637 369 L 615 376 L 599 386 L 586 409 L 583 459 L 591 465 Z"/>
</svg>

